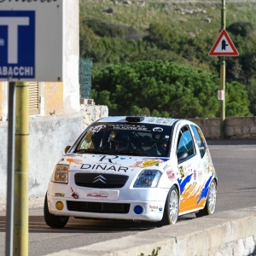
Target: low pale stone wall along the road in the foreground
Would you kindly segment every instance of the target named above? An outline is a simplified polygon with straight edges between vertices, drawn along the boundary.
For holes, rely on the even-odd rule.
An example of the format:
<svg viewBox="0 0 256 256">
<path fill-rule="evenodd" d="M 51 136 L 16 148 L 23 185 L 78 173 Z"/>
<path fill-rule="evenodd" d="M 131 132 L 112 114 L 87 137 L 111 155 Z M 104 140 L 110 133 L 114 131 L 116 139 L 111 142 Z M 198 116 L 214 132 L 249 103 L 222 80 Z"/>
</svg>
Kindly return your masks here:
<svg viewBox="0 0 256 256">
<path fill-rule="evenodd" d="M 218 212 L 44 256 L 146 256 L 158 247 L 160 250 L 154 255 L 256 255 L 256 207 Z"/>
</svg>

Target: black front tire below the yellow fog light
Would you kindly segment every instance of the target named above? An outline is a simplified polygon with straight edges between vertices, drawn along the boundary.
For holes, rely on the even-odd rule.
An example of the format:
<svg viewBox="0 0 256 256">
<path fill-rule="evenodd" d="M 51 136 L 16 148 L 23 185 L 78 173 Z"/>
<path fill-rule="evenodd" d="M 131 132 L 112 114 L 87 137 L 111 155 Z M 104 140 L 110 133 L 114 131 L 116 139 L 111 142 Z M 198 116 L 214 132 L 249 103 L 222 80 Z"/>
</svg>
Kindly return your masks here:
<svg viewBox="0 0 256 256">
<path fill-rule="evenodd" d="M 64 228 L 68 221 L 67 216 L 56 216 L 54 214 L 51 214 L 48 209 L 47 204 L 47 193 L 44 198 L 44 220 L 45 223 L 49 225 L 51 228 L 57 228 L 61 229 Z"/>
</svg>

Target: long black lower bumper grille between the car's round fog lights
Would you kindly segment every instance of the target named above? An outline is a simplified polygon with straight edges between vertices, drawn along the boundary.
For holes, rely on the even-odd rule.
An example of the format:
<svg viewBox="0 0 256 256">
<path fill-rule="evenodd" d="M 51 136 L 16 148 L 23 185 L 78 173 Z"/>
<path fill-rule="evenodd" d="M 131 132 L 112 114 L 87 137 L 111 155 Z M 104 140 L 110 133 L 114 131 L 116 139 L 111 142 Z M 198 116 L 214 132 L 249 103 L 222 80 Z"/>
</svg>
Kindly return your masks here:
<svg viewBox="0 0 256 256">
<path fill-rule="evenodd" d="M 73 212 L 128 213 L 130 204 L 67 201 L 67 210 Z"/>
</svg>

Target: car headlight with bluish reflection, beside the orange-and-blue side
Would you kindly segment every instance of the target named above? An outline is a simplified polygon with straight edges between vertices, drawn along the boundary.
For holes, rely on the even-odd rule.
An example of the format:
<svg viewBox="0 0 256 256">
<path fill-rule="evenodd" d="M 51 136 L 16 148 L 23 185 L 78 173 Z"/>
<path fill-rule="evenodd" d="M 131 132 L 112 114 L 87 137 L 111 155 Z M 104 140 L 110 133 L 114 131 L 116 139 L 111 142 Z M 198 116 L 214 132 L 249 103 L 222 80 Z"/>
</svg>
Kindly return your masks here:
<svg viewBox="0 0 256 256">
<path fill-rule="evenodd" d="M 144 170 L 137 177 L 133 188 L 155 188 L 162 173 L 156 170 Z"/>
</svg>

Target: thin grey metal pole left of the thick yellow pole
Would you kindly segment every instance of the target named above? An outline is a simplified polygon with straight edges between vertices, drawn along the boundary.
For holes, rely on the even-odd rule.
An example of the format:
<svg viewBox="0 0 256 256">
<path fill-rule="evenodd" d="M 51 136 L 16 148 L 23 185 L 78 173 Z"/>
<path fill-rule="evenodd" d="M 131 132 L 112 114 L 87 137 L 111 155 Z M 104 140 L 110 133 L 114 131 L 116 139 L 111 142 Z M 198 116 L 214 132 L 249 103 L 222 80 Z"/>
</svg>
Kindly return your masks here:
<svg viewBox="0 0 256 256">
<path fill-rule="evenodd" d="M 6 234 L 5 256 L 13 255 L 14 238 L 14 175 L 15 175 L 15 82 L 9 82 L 8 105 L 8 175 L 7 175 L 7 203 L 6 203 Z"/>
</svg>

